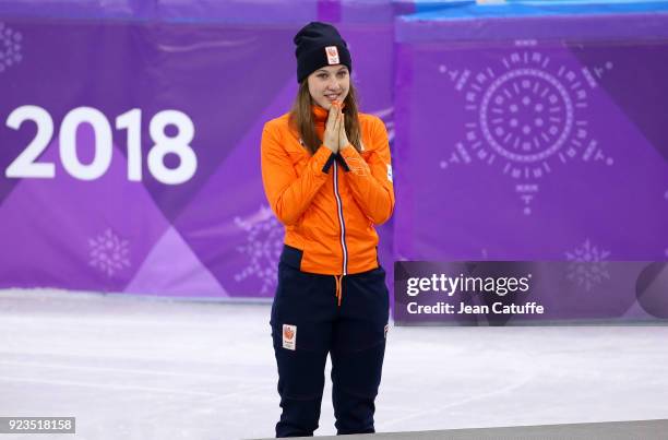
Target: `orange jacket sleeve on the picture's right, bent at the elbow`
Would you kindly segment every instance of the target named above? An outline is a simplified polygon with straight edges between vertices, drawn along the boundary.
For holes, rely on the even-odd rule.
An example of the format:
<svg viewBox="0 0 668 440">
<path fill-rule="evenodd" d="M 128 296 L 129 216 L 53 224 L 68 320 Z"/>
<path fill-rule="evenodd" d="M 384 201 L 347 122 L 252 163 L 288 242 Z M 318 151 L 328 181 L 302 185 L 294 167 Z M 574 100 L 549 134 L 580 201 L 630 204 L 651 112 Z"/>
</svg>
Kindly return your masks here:
<svg viewBox="0 0 668 440">
<path fill-rule="evenodd" d="M 351 145 L 342 148 L 341 155 L 349 168 L 346 178 L 353 197 L 365 214 L 380 225 L 390 219 L 394 211 L 394 186 L 387 131 L 378 118 L 374 118 L 371 142 L 367 159 Z"/>
</svg>

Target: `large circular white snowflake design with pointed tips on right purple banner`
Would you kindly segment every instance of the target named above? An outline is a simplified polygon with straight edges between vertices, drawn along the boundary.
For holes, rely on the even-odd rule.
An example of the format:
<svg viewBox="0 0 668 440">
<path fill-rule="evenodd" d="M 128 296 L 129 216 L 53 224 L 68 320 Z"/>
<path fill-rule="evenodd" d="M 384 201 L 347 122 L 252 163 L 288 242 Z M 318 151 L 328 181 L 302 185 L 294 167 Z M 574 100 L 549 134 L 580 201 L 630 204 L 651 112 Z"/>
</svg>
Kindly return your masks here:
<svg viewBox="0 0 668 440">
<path fill-rule="evenodd" d="M 539 179 L 557 164 L 571 160 L 613 165 L 593 138 L 587 121 L 591 91 L 612 69 L 558 66 L 535 40 L 515 41 L 516 49 L 479 72 L 440 64 L 454 88 L 464 96 L 470 116 L 464 138 L 456 142 L 441 169 L 480 160 L 502 169 L 515 181 L 523 214 L 532 214 Z"/>
</svg>

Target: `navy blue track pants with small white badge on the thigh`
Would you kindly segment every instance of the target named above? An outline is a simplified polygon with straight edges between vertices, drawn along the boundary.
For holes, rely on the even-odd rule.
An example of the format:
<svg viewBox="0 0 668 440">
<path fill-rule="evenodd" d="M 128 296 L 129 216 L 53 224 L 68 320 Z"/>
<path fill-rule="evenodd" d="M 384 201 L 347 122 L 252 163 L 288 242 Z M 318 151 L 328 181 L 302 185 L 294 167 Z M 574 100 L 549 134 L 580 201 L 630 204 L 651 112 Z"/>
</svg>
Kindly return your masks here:
<svg viewBox="0 0 668 440">
<path fill-rule="evenodd" d="M 327 353 L 337 433 L 374 432 L 389 318 L 385 271 L 346 275 L 341 306 L 335 295 L 334 276 L 279 263 L 271 318 L 283 408 L 276 437 L 318 429 Z"/>
</svg>

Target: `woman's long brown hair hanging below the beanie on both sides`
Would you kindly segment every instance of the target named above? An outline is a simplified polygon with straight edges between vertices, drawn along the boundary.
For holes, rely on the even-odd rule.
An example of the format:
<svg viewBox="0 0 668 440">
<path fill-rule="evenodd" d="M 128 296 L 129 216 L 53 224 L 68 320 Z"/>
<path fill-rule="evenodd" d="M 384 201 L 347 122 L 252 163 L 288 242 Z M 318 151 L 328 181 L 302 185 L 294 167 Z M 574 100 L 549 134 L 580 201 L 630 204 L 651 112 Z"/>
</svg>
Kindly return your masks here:
<svg viewBox="0 0 668 440">
<path fill-rule="evenodd" d="M 361 134 L 359 129 L 359 119 L 357 112 L 357 92 L 350 81 L 350 88 L 348 90 L 348 96 L 344 99 L 343 112 L 346 115 L 345 129 L 348 142 L 353 144 L 355 150 L 361 152 Z M 299 84 L 299 91 L 297 92 L 297 98 L 293 105 L 289 116 L 289 124 L 293 130 L 296 131 L 297 135 L 301 138 L 301 142 L 311 153 L 315 154 L 318 147 L 322 145 L 322 140 L 315 132 L 315 122 L 313 120 L 313 111 L 311 106 L 313 102 L 311 94 L 309 93 L 309 80 L 305 79 Z"/>
</svg>

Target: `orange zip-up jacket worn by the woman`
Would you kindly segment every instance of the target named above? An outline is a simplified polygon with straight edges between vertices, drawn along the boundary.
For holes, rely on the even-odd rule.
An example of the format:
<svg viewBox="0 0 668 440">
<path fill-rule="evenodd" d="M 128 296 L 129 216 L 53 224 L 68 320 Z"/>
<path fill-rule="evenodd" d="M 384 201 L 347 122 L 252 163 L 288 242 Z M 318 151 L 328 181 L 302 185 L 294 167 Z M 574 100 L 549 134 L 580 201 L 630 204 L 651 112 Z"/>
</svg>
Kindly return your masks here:
<svg viewBox="0 0 668 440">
<path fill-rule="evenodd" d="M 322 139 L 327 110 L 313 106 L 313 114 Z M 373 225 L 386 222 L 394 210 L 385 126 L 359 114 L 362 152 L 348 145 L 337 159 L 324 145 L 311 156 L 289 128 L 288 116 L 264 126 L 262 181 L 285 225 L 285 245 L 300 251 L 299 270 L 347 275 L 378 267 Z"/>
</svg>

